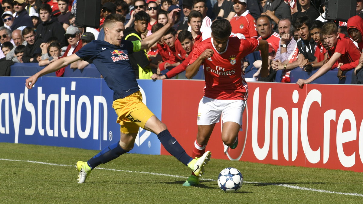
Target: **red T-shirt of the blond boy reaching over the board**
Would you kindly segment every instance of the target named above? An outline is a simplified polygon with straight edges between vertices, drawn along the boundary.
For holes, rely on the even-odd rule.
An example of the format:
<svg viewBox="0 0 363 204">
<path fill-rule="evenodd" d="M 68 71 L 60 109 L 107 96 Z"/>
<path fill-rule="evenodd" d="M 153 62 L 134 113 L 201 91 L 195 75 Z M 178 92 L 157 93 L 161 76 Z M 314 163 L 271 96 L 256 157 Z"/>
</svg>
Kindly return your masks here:
<svg viewBox="0 0 363 204">
<path fill-rule="evenodd" d="M 360 51 L 354 43 L 345 35 L 339 34 L 337 45 L 329 50 L 331 53 L 338 52 L 342 54 L 338 62 L 344 65 L 340 66 L 340 70 L 348 71 L 354 69 L 358 65 Z"/>
</svg>

